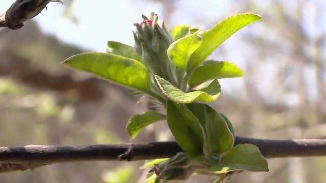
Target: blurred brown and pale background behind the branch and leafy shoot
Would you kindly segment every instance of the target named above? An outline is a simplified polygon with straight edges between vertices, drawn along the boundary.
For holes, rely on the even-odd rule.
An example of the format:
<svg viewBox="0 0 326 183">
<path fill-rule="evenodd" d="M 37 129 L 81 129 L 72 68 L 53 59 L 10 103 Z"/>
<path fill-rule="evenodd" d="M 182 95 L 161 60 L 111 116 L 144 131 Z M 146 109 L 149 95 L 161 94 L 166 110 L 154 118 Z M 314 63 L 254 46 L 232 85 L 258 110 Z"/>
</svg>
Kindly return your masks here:
<svg viewBox="0 0 326 183">
<path fill-rule="evenodd" d="M 0 12 L 13 3 L 2 0 Z M 240 136 L 326 137 L 326 2 L 254 0 L 64 1 L 50 3 L 19 31 L 0 29 L 0 145 L 130 143 L 129 116 L 147 102 L 129 90 L 60 63 L 106 42 L 133 45 L 133 23 L 156 12 L 172 28 L 209 28 L 236 13 L 263 21 L 242 29 L 210 58 L 227 60 L 244 77 L 222 79 L 212 103 Z M 165 129 L 165 130 L 162 130 Z M 132 142 L 173 140 L 165 121 Z M 326 158 L 269 159 L 268 173 L 244 172 L 228 182 L 325 182 Z M 1 182 L 141 182 L 143 162 L 65 163 L 0 174 Z M 188 182 L 208 182 L 194 176 Z"/>
</svg>

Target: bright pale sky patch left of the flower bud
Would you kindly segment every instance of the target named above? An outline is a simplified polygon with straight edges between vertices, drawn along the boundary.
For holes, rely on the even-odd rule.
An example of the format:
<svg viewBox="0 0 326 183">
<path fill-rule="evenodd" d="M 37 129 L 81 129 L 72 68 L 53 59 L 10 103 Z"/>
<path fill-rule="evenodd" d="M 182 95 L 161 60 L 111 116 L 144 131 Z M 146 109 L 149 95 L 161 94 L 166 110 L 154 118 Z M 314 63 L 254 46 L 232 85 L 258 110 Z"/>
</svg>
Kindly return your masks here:
<svg viewBox="0 0 326 183">
<path fill-rule="evenodd" d="M 0 11 L 4 12 L 14 0 L 2 0 Z M 87 49 L 104 51 L 107 40 L 121 41 L 132 45 L 133 23 L 140 20 L 136 1 L 89 1 L 77 0 L 73 14 L 79 24 L 62 18 L 64 7 L 50 3 L 35 20 L 45 33 Z M 95 3 L 99 2 L 99 3 Z M 133 2 L 133 3 L 132 3 Z M 145 12 L 158 11 L 159 6 L 142 7 Z M 97 19 L 97 20 L 94 20 Z"/>
</svg>

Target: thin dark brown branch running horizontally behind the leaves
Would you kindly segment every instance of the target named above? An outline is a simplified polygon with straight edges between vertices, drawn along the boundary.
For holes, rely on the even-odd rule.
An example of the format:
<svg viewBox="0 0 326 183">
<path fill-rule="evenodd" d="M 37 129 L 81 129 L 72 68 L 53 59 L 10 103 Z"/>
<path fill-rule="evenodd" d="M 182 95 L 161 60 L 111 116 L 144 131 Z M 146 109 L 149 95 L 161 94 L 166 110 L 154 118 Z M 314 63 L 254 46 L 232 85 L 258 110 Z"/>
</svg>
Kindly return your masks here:
<svg viewBox="0 0 326 183">
<path fill-rule="evenodd" d="M 326 156 L 326 140 L 264 140 L 236 137 L 235 145 L 252 143 L 265 158 Z M 34 169 L 63 162 L 137 161 L 170 158 L 181 151 L 176 142 L 116 145 L 0 147 L 0 172 Z"/>
</svg>

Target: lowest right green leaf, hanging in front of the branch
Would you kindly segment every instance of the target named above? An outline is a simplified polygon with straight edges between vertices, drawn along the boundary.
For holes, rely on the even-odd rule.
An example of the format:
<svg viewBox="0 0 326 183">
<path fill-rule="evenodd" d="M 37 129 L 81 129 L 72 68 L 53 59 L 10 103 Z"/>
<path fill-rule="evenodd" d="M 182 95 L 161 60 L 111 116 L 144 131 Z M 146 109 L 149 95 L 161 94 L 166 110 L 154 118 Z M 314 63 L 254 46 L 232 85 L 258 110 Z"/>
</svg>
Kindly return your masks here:
<svg viewBox="0 0 326 183">
<path fill-rule="evenodd" d="M 268 171 L 266 159 L 253 144 L 239 144 L 229 150 L 222 163 L 209 169 L 214 173 L 227 173 L 234 170 Z"/>
</svg>

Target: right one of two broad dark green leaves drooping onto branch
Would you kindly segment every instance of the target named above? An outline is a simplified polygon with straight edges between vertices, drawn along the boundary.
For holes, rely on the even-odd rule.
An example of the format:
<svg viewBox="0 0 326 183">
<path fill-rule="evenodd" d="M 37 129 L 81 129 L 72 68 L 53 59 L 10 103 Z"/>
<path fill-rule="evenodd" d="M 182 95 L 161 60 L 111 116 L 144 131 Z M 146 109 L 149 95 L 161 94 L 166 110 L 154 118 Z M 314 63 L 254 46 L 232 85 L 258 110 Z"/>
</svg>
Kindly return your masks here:
<svg viewBox="0 0 326 183">
<path fill-rule="evenodd" d="M 210 154 L 222 154 L 228 151 L 234 143 L 234 136 L 226 121 L 207 104 L 191 103 L 187 108 L 200 120 L 205 129 L 206 140 Z"/>
</svg>

